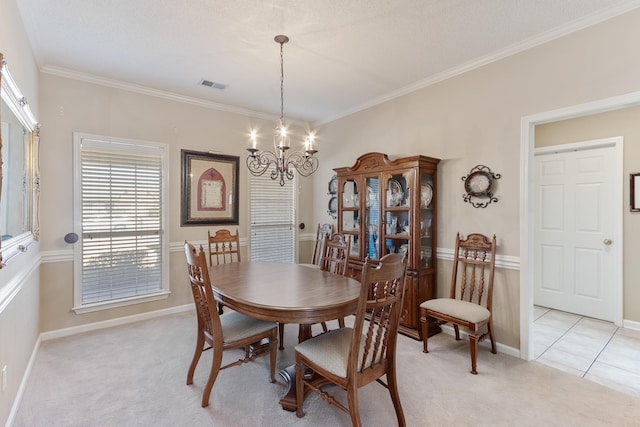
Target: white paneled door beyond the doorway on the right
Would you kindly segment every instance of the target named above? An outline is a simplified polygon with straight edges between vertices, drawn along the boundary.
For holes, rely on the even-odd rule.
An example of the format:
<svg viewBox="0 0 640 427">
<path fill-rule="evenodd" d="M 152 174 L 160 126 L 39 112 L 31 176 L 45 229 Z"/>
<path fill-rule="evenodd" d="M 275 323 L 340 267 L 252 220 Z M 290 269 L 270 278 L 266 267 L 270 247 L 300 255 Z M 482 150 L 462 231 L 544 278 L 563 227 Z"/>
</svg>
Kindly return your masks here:
<svg viewBox="0 0 640 427">
<path fill-rule="evenodd" d="M 536 305 L 617 320 L 615 141 L 536 150 Z"/>
</svg>

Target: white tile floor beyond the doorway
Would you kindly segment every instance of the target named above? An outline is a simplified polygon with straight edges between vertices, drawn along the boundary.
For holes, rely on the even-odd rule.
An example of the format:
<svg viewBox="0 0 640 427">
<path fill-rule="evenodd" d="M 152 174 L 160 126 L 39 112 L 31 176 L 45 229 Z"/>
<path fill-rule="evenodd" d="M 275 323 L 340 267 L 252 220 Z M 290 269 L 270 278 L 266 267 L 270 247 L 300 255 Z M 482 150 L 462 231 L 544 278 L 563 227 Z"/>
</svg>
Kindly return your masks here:
<svg viewBox="0 0 640 427">
<path fill-rule="evenodd" d="M 640 331 L 534 306 L 535 359 L 640 397 Z"/>
</svg>

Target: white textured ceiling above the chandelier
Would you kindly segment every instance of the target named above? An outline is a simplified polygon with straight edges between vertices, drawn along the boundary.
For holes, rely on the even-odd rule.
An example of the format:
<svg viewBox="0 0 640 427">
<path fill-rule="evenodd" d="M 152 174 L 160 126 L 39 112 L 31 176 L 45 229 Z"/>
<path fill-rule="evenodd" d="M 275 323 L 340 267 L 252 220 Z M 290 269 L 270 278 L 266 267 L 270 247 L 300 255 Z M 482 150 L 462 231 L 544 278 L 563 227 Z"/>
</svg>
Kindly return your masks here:
<svg viewBox="0 0 640 427">
<path fill-rule="evenodd" d="M 638 0 L 16 0 L 44 72 L 326 122 Z M 227 85 L 199 85 L 202 79 Z"/>
</svg>

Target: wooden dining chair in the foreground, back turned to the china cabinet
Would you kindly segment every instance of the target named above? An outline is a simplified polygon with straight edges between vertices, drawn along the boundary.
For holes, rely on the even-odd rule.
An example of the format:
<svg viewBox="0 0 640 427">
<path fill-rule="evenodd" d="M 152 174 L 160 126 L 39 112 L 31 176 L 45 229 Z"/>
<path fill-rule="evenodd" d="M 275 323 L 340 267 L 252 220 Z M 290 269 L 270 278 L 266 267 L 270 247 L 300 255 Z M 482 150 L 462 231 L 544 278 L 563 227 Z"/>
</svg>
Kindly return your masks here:
<svg viewBox="0 0 640 427">
<path fill-rule="evenodd" d="M 295 347 L 296 414 L 304 416 L 308 391 L 351 416 L 361 426 L 358 389 L 377 381 L 389 390 L 399 426 L 405 426 L 396 378 L 396 342 L 402 311 L 406 264 L 388 254 L 378 266 L 365 262 L 360 299 L 352 328 L 340 328 L 308 339 Z M 387 382 L 381 377 L 386 375 Z M 323 387 L 335 384 L 347 392 L 347 404 Z M 375 406 L 375 405 L 374 405 Z"/>
</svg>

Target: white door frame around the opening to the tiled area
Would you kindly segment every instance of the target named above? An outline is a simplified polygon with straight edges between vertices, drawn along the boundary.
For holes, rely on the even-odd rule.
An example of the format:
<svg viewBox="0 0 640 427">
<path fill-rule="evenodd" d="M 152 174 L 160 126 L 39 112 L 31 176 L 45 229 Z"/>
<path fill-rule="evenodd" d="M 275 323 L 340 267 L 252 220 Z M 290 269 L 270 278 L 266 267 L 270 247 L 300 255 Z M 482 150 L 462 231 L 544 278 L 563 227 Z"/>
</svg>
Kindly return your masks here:
<svg viewBox="0 0 640 427">
<path fill-rule="evenodd" d="M 640 105 L 640 92 L 605 98 L 585 104 L 545 111 L 520 119 L 520 358 L 533 358 L 533 266 L 535 220 L 534 143 L 535 127 Z M 622 224 L 622 219 L 621 219 Z M 622 278 L 620 278 L 622 280 Z M 620 299 L 622 296 L 620 295 Z M 622 311 L 620 311 L 622 315 Z M 622 319 L 620 319 L 622 321 Z"/>
</svg>

